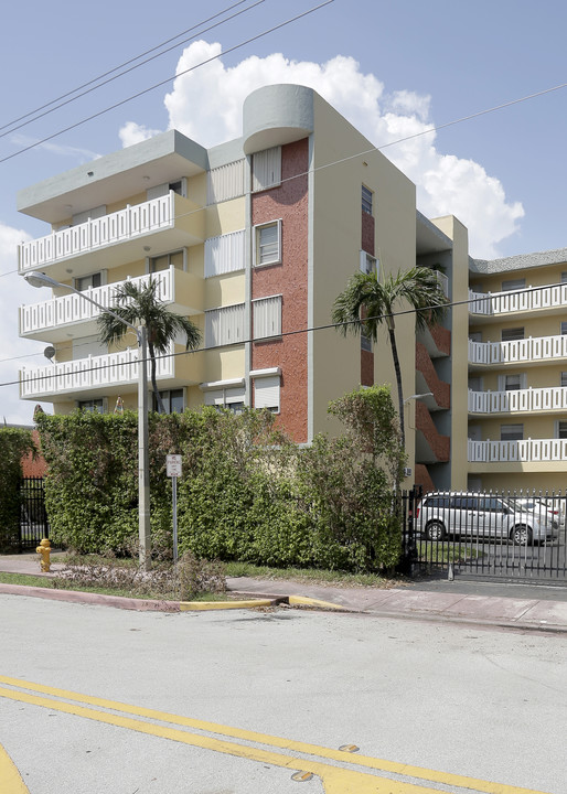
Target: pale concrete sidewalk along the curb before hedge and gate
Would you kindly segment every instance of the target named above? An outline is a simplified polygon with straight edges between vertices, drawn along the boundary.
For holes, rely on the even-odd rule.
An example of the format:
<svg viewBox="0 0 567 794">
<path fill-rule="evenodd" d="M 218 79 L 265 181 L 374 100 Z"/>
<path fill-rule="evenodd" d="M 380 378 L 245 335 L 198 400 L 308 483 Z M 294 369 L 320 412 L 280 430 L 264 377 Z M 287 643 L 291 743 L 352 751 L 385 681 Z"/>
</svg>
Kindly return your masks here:
<svg viewBox="0 0 567 794">
<path fill-rule="evenodd" d="M 61 570 L 63 566 L 57 562 L 57 554 L 52 555 L 52 571 Z M 0 571 L 42 577 L 53 576 L 53 573 L 40 572 L 35 554 L 0 555 Z M 281 579 L 250 579 L 247 577 L 228 578 L 227 586 L 233 593 L 240 594 L 243 598 L 276 600 L 291 596 L 300 597 L 297 601 L 301 599 L 317 600 L 334 604 L 342 611 L 363 614 L 567 633 L 567 587 L 456 580 L 454 582 L 417 581 L 407 587 L 381 589 L 327 587 Z M 0 583 L 0 593 L 9 591 L 13 593 L 14 590 L 22 594 L 39 594 L 25 592 L 30 589 L 15 589 L 13 586 Z M 126 609 L 156 610 L 159 609 L 158 604 L 160 603 L 109 596 L 93 597 L 90 593 L 65 590 L 45 590 L 42 594 L 44 598 L 109 603 Z M 87 596 L 90 598 L 86 598 Z M 122 604 L 121 601 L 128 603 Z M 172 602 L 168 602 L 168 604 L 171 605 Z M 176 609 L 179 609 L 179 604 Z"/>
</svg>

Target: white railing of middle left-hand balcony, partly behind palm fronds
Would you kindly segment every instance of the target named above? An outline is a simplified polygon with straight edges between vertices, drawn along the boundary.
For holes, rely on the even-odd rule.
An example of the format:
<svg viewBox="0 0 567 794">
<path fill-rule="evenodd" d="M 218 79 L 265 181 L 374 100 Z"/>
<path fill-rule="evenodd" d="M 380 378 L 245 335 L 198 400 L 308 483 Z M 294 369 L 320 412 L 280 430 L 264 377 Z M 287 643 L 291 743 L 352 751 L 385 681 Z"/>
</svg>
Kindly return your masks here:
<svg viewBox="0 0 567 794">
<path fill-rule="evenodd" d="M 137 287 L 145 287 L 150 278 L 158 281 L 157 297 L 163 303 L 171 303 L 174 300 L 175 269 L 160 270 L 151 276 L 139 276 L 129 279 Z M 116 290 L 124 281 L 96 287 L 85 290 L 83 293 L 108 309 L 116 302 Z M 38 331 L 46 331 L 67 323 L 86 322 L 94 320 L 100 314 L 100 309 L 87 300 L 84 300 L 76 292 L 71 292 L 60 298 L 51 298 L 41 303 L 31 303 L 20 307 L 20 335 L 31 334 Z"/>
</svg>

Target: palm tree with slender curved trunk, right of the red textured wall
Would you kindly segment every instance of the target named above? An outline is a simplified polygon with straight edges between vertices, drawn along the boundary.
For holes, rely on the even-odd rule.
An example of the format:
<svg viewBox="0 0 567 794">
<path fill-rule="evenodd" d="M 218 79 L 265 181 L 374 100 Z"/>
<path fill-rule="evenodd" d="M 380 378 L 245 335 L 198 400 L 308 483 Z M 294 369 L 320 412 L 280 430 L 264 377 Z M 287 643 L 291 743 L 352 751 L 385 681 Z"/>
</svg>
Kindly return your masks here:
<svg viewBox="0 0 567 794">
<path fill-rule="evenodd" d="M 355 273 L 333 304 L 333 322 L 340 323 L 338 331 L 346 336 L 349 332 L 377 341 L 378 329 L 385 324 L 388 330 L 392 357 L 396 373 L 399 404 L 399 430 L 405 448 L 404 394 L 402 369 L 396 345 L 395 311 L 398 302 L 405 301 L 416 310 L 416 326 L 425 329 L 443 318 L 447 298 L 430 268 L 414 267 L 396 276 L 388 275 L 378 281 L 376 272 Z"/>
</svg>

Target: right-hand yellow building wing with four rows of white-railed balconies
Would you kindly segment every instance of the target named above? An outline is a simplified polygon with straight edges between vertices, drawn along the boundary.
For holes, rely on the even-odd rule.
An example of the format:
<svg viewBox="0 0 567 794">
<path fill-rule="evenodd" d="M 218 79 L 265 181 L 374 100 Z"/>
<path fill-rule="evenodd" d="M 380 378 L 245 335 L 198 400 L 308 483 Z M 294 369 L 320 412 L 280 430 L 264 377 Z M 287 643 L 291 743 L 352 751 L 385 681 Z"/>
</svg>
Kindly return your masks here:
<svg viewBox="0 0 567 794">
<path fill-rule="evenodd" d="M 471 260 L 469 485 L 567 487 L 567 249 Z"/>
</svg>

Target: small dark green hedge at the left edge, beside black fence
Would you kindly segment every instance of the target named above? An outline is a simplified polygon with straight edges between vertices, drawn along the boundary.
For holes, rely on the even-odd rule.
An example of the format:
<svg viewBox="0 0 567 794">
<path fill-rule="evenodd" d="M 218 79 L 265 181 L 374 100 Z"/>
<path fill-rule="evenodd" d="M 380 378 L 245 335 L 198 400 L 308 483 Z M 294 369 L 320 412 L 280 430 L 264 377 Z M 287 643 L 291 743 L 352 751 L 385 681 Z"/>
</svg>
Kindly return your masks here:
<svg viewBox="0 0 567 794">
<path fill-rule="evenodd" d="M 30 453 L 36 453 L 31 430 L 0 428 L 0 550 L 19 544 L 22 458 Z"/>
</svg>

